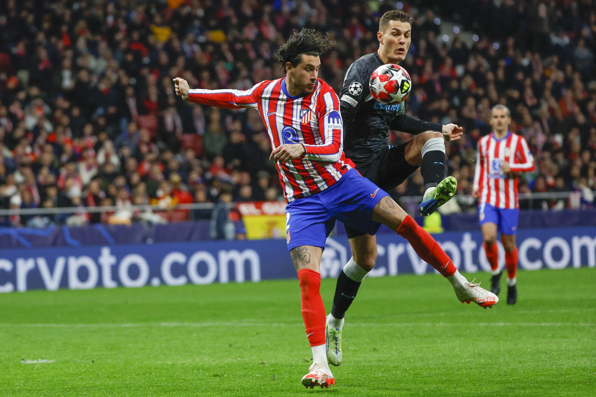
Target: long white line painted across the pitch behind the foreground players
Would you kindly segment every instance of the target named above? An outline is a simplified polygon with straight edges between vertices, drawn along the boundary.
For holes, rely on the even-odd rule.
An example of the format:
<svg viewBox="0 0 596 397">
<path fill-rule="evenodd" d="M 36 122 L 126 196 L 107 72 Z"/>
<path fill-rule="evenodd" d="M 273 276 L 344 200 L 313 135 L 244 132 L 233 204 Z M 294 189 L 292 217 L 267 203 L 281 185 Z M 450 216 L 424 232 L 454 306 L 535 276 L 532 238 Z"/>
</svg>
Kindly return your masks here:
<svg viewBox="0 0 596 397">
<path fill-rule="evenodd" d="M 0 324 L 0 327 L 34 328 L 138 328 L 138 327 L 298 327 L 302 322 L 137 322 L 98 324 Z M 467 323 L 458 322 L 350 322 L 351 327 L 457 327 Z M 591 322 L 477 322 L 479 327 L 594 327 Z"/>
</svg>

